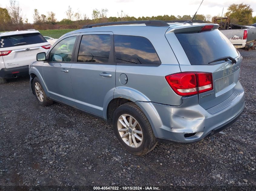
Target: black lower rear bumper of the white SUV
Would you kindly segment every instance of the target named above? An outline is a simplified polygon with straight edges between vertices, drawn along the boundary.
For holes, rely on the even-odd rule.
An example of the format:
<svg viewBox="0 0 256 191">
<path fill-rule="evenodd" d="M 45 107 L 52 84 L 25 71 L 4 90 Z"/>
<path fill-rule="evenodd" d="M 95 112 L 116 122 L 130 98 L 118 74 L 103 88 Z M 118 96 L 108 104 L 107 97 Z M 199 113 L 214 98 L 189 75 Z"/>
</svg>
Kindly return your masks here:
<svg viewBox="0 0 256 191">
<path fill-rule="evenodd" d="M 17 75 L 17 77 L 28 75 L 28 65 L 14 68 L 2 68 L 0 70 L 0 78 L 14 78 L 13 75 Z"/>
</svg>

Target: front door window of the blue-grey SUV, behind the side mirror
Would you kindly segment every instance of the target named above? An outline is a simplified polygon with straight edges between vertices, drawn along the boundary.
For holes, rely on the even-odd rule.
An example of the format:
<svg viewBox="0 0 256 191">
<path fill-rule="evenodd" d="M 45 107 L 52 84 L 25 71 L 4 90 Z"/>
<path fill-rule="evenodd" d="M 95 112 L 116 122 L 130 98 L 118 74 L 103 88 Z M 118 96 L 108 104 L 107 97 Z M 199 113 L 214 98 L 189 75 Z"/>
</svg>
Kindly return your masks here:
<svg viewBox="0 0 256 191">
<path fill-rule="evenodd" d="M 75 44 L 76 36 L 68 37 L 53 47 L 49 61 L 70 62 Z"/>
</svg>

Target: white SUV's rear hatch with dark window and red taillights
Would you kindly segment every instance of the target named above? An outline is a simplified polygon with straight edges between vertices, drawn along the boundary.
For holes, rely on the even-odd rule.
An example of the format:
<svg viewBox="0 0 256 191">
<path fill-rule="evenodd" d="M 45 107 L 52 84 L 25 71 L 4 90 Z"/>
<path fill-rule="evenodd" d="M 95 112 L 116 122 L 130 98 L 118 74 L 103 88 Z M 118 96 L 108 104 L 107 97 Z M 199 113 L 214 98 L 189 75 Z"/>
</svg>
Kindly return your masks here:
<svg viewBox="0 0 256 191">
<path fill-rule="evenodd" d="M 40 33 L 25 33 L 1 38 L 0 51 L 5 68 L 13 68 L 29 65 L 36 61 L 36 54 L 46 52 L 50 48 L 49 43 Z"/>
</svg>

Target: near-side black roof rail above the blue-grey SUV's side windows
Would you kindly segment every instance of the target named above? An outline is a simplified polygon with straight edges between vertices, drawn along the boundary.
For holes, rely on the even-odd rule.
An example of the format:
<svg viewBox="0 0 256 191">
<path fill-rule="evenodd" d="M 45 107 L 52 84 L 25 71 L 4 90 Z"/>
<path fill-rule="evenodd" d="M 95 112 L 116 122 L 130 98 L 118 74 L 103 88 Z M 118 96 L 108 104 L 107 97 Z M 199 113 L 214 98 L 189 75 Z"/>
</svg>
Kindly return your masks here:
<svg viewBox="0 0 256 191">
<path fill-rule="evenodd" d="M 118 22 L 109 22 L 109 23 L 97 23 L 97 24 L 88 24 L 84 25 L 81 29 L 103 26 L 103 25 L 113 25 L 113 24 L 145 24 L 147 26 L 155 27 L 169 27 L 165 21 L 160 20 L 150 20 L 150 21 L 118 21 Z"/>
</svg>

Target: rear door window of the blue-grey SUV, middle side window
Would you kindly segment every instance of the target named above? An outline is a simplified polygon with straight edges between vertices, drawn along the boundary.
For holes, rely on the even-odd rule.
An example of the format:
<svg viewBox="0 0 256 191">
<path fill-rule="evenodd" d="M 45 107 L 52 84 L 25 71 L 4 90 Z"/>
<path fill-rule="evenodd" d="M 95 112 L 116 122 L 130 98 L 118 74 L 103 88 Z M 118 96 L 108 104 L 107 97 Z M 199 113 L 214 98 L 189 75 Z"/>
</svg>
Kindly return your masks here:
<svg viewBox="0 0 256 191">
<path fill-rule="evenodd" d="M 107 63 L 111 48 L 109 34 L 83 35 L 77 62 Z"/>
</svg>

